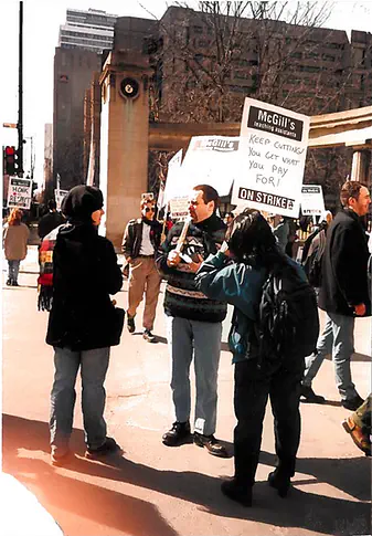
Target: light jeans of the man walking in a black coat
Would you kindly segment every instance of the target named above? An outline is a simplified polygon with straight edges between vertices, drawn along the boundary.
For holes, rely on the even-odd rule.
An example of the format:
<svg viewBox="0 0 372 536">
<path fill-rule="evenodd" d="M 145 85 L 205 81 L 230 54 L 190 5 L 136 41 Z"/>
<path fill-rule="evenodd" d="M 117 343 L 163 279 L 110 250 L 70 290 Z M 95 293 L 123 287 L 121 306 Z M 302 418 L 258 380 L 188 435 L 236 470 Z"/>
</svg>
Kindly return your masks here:
<svg viewBox="0 0 372 536">
<path fill-rule="evenodd" d="M 353 316 L 326 314 L 326 326 L 317 343 L 317 354 L 306 358 L 304 385 L 311 386 L 327 354 L 332 354 L 336 385 L 342 400 L 358 397 L 351 380 L 350 359 L 354 351 Z"/>
</svg>

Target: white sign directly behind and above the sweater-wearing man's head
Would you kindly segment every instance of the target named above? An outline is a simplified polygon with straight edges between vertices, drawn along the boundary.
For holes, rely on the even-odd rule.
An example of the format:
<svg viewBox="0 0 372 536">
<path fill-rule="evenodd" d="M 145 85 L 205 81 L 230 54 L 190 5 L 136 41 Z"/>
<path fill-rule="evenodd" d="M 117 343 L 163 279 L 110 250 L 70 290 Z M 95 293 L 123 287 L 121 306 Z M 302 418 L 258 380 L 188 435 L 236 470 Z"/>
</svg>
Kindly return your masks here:
<svg viewBox="0 0 372 536">
<path fill-rule="evenodd" d="M 182 187 L 210 185 L 220 197 L 228 196 L 236 177 L 240 138 L 193 136 L 182 162 Z"/>
</svg>

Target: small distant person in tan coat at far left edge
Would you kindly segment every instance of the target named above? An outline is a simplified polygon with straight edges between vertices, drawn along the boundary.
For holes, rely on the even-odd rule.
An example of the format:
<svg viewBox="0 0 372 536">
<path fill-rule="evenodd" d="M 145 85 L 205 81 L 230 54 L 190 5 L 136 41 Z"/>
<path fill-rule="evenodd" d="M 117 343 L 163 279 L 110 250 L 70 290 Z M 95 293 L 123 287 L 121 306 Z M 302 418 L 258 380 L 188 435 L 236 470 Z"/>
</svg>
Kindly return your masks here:
<svg viewBox="0 0 372 536">
<path fill-rule="evenodd" d="M 3 245 L 9 266 L 8 286 L 19 286 L 18 273 L 20 263 L 28 254 L 30 231 L 28 225 L 22 223 L 22 210 L 19 208 L 12 209 L 3 229 Z"/>
</svg>

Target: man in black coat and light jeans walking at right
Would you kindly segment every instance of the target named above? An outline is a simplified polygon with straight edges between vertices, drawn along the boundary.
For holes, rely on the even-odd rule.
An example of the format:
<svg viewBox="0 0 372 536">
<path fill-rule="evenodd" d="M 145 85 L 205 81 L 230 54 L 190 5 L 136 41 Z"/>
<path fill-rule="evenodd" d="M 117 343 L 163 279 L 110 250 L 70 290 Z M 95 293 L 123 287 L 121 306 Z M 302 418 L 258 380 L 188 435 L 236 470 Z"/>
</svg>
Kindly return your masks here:
<svg viewBox="0 0 372 536">
<path fill-rule="evenodd" d="M 307 383 L 317 375 L 327 354 L 332 354 L 336 385 L 341 404 L 357 410 L 363 399 L 351 379 L 350 359 L 354 351 L 354 323 L 357 316 L 370 316 L 366 266 L 368 240 L 361 223 L 371 203 L 365 186 L 354 180 L 341 187 L 342 210 L 336 216 L 327 232 L 322 258 L 319 307 L 326 312 L 326 326 L 317 343 L 317 351 L 306 358 Z M 315 395 L 315 393 L 313 393 Z M 322 402 L 304 392 L 308 402 Z"/>
</svg>

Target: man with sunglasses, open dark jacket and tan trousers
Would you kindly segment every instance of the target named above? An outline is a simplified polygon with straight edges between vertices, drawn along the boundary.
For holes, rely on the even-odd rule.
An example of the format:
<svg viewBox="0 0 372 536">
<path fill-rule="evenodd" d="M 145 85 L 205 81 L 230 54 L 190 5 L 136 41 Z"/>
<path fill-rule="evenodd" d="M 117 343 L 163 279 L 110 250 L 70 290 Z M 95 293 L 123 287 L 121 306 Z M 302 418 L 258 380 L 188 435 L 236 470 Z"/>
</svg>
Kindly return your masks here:
<svg viewBox="0 0 372 536">
<path fill-rule="evenodd" d="M 155 253 L 160 246 L 161 223 L 155 219 L 155 199 L 142 195 L 141 218 L 130 220 L 123 239 L 123 253 L 129 263 L 129 291 L 127 328 L 135 333 L 135 316 L 145 295 L 144 339 L 156 343 L 152 334 L 160 292 L 161 276 L 155 264 Z"/>
</svg>

